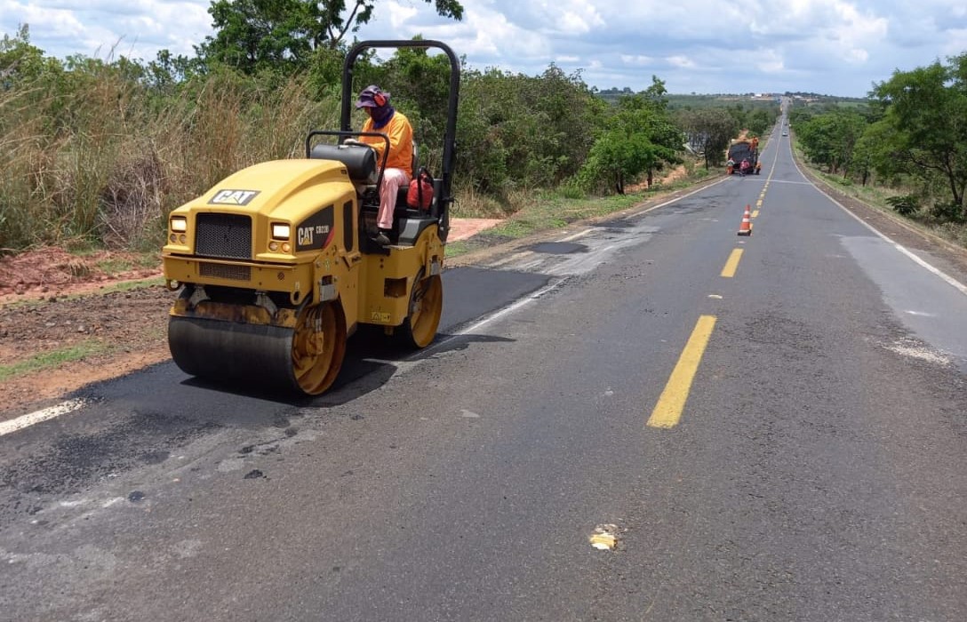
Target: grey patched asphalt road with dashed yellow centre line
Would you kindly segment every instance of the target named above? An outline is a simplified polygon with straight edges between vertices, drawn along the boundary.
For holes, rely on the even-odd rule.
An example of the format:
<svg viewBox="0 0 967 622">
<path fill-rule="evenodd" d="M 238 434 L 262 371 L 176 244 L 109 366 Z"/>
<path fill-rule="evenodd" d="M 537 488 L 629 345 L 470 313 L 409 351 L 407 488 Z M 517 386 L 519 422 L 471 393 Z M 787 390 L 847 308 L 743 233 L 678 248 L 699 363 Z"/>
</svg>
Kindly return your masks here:
<svg viewBox="0 0 967 622">
<path fill-rule="evenodd" d="M 319 399 L 164 363 L 4 433 L 0 618 L 967 619 L 967 288 L 788 140 L 448 270 Z"/>
</svg>

